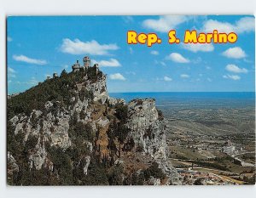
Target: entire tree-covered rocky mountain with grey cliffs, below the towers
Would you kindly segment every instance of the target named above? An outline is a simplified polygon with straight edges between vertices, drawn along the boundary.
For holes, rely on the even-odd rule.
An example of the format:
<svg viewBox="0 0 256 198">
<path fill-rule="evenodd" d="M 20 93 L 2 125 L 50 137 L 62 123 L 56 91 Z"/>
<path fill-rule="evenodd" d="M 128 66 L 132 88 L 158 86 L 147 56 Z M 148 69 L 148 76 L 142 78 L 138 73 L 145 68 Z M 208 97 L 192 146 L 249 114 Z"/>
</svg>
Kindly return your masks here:
<svg viewBox="0 0 256 198">
<path fill-rule="evenodd" d="M 181 184 L 154 99 L 125 105 L 90 70 L 9 99 L 9 184 Z"/>
</svg>

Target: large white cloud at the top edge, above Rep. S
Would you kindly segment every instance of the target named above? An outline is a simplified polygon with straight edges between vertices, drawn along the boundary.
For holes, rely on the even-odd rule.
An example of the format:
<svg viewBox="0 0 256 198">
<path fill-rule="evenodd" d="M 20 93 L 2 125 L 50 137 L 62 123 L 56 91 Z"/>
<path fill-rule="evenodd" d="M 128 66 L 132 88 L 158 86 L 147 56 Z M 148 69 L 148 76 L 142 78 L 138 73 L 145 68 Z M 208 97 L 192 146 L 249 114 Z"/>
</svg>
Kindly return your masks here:
<svg viewBox="0 0 256 198">
<path fill-rule="evenodd" d="M 192 18 L 184 15 L 160 16 L 158 20 L 143 20 L 143 27 L 154 31 L 167 32 L 190 19 Z"/>
</svg>

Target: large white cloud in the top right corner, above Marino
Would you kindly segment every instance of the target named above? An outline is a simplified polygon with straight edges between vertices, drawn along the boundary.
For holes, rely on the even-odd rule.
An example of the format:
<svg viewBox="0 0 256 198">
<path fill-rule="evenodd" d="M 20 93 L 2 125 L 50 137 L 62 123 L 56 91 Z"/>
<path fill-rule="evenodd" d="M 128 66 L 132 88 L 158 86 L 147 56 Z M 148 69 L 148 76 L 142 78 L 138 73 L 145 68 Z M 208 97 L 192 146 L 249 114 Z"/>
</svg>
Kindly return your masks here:
<svg viewBox="0 0 256 198">
<path fill-rule="evenodd" d="M 230 33 L 231 31 L 243 33 L 254 31 L 254 23 L 253 17 L 243 17 L 240 20 L 237 20 L 234 25 L 228 22 L 220 22 L 218 20 L 207 20 L 203 25 L 202 31 L 212 32 L 213 30 L 218 30 L 218 32 L 226 33 Z"/>
</svg>

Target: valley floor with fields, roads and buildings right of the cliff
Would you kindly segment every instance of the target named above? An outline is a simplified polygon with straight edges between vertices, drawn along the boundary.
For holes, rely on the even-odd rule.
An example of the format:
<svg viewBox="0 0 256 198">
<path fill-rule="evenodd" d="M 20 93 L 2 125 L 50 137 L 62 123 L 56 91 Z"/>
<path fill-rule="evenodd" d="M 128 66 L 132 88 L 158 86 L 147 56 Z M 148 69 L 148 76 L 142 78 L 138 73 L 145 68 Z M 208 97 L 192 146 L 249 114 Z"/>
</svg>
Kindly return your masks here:
<svg viewBox="0 0 256 198">
<path fill-rule="evenodd" d="M 255 184 L 254 110 L 166 110 L 169 160 L 183 184 Z"/>
</svg>

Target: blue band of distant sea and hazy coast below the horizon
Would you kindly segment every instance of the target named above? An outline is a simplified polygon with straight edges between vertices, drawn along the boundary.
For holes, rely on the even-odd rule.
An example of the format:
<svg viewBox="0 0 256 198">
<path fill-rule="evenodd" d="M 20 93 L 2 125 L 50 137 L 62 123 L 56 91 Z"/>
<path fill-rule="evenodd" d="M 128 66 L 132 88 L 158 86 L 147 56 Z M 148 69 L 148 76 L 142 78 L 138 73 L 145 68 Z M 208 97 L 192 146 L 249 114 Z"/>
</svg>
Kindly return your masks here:
<svg viewBox="0 0 256 198">
<path fill-rule="evenodd" d="M 255 92 L 153 92 L 109 93 L 113 98 L 155 99 L 159 109 L 232 109 L 255 107 Z"/>
</svg>

